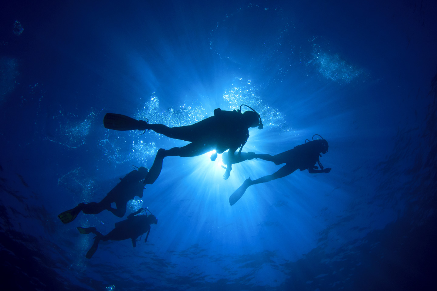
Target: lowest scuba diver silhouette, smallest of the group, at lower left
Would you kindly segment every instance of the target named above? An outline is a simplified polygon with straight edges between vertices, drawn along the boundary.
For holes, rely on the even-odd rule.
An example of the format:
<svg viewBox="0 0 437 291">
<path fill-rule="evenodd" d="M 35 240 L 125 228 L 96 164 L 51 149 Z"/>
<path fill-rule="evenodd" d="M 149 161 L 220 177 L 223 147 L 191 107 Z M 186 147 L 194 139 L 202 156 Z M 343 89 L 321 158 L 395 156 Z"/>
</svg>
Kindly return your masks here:
<svg viewBox="0 0 437 291">
<path fill-rule="evenodd" d="M 144 215 L 137 215 L 139 213 L 144 212 Z M 147 215 L 147 212 L 149 212 L 149 215 Z M 149 211 L 149 209 L 140 208 L 137 212 L 133 212 L 128 215 L 127 219 L 122 220 L 118 223 L 115 223 L 115 228 L 111 230 L 110 233 L 108 233 L 106 236 L 104 236 L 102 233 L 98 232 L 95 227 L 78 227 L 77 230 L 79 230 L 80 233 L 83 234 L 89 234 L 94 233 L 96 236 L 94 237 L 94 243 L 91 246 L 90 250 L 88 250 L 87 257 L 90 259 L 94 253 L 97 250 L 97 247 L 99 246 L 99 242 L 107 241 L 107 240 L 132 240 L 132 246 L 136 246 L 136 240 L 139 236 L 142 236 L 143 233 L 147 233 L 146 239 L 144 242 L 147 242 L 147 238 L 149 237 L 150 233 L 150 224 L 157 224 L 158 219 L 156 219 L 156 216 L 152 214 L 152 212 Z M 141 240 L 141 239 L 140 239 Z"/>
</svg>

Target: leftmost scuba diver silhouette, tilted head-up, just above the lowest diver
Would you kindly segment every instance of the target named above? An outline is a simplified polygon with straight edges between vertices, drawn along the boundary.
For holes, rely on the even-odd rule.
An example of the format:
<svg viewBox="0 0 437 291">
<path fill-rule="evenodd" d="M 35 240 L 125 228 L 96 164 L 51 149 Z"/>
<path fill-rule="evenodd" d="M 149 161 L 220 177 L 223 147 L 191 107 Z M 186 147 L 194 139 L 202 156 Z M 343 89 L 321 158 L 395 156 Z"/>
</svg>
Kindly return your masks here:
<svg viewBox="0 0 437 291">
<path fill-rule="evenodd" d="M 101 202 L 79 203 L 75 208 L 62 212 L 58 215 L 62 223 L 72 222 L 79 212 L 86 214 L 97 214 L 107 209 L 114 213 L 115 216 L 123 217 L 126 213 L 126 204 L 135 196 L 142 198 L 144 190 L 143 180 L 146 178 L 149 170 L 145 167 L 139 167 L 126 174 L 125 178 L 120 178 L 120 182 L 108 192 Z M 115 202 L 116 209 L 111 207 Z"/>
</svg>

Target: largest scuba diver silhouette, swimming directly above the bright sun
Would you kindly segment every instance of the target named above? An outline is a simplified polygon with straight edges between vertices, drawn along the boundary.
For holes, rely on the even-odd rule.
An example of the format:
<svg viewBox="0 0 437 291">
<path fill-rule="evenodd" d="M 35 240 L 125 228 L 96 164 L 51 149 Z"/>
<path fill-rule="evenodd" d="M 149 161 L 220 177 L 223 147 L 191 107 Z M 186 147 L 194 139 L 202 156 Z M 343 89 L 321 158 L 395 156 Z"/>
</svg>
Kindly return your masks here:
<svg viewBox="0 0 437 291">
<path fill-rule="evenodd" d="M 249 107 L 252 111 L 247 110 L 241 113 L 242 106 Z M 144 184 L 153 184 L 156 181 L 162 170 L 164 157 L 195 157 L 215 150 L 215 153 L 211 155 L 211 161 L 215 161 L 217 154 L 222 154 L 229 149 L 230 162 L 223 175 L 226 180 L 231 174 L 234 153 L 239 148 L 240 154 L 244 144 L 246 144 L 249 137 L 249 127 L 263 128 L 261 116 L 245 104 L 241 105 L 239 110 L 233 111 L 217 108 L 214 110 L 214 116 L 188 126 L 166 127 L 163 124 L 149 124 L 148 122 L 149 120 L 135 120 L 115 113 L 107 113 L 103 120 L 104 126 L 108 129 L 144 130 L 144 132 L 153 130 L 166 137 L 190 142 L 184 147 L 173 147 L 170 150 L 159 149 Z"/>
</svg>

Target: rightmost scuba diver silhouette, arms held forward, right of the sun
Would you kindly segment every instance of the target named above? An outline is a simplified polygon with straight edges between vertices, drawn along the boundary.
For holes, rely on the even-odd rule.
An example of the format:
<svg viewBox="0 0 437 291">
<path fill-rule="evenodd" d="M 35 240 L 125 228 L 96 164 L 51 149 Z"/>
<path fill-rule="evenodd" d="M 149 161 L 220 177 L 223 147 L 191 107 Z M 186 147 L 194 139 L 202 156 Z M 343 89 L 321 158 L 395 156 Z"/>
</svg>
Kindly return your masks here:
<svg viewBox="0 0 437 291">
<path fill-rule="evenodd" d="M 316 135 L 321 137 L 319 134 L 315 134 L 312 136 L 312 139 Z M 295 146 L 291 150 L 284 151 L 281 154 L 275 154 L 274 156 L 270 154 L 255 154 L 253 152 L 249 152 L 242 153 L 239 158 L 235 157 L 233 161 L 237 163 L 251 160 L 253 158 L 259 158 L 265 161 L 272 161 L 277 165 L 284 163 L 285 165 L 271 175 L 267 175 L 256 180 L 250 180 L 250 178 L 246 179 L 246 181 L 243 182 L 243 185 L 235 190 L 235 192 L 233 192 L 229 197 L 230 205 L 234 205 L 241 198 L 241 196 L 243 196 L 244 192 L 246 192 L 246 189 L 250 185 L 265 183 L 277 178 L 288 176 L 297 169 L 300 169 L 301 171 L 308 169 L 310 174 L 329 173 L 331 168 L 323 168 L 323 165 L 319 161 L 319 157 L 322 157 L 320 153 L 326 154 L 328 151 L 328 142 L 324 140 L 323 137 L 321 138 L 321 140 L 311 139 L 311 141 L 308 140 L 308 142 L 305 140 L 305 144 Z M 227 162 L 226 158 L 225 161 Z M 319 164 L 320 170 L 319 167 L 315 165 L 316 163 Z"/>
</svg>

